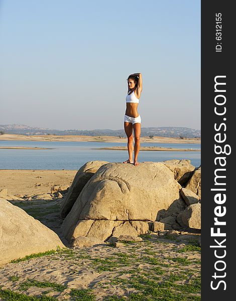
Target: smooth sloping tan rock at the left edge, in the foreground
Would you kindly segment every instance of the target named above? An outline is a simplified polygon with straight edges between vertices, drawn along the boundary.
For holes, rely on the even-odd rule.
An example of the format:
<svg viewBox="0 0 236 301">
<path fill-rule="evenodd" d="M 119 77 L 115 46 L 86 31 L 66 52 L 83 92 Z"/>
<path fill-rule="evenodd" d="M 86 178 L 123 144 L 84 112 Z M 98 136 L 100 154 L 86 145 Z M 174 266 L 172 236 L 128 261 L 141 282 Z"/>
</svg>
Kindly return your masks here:
<svg viewBox="0 0 236 301">
<path fill-rule="evenodd" d="M 0 200 L 0 265 L 65 247 L 56 233 L 7 200 Z"/>
</svg>

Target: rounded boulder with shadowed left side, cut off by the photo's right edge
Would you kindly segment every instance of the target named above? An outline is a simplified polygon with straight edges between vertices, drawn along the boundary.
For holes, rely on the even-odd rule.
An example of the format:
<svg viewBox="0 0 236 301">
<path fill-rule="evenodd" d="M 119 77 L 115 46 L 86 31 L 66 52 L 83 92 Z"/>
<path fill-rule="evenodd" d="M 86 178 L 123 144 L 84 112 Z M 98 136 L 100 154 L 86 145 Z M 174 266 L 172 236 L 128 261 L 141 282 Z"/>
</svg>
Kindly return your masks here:
<svg viewBox="0 0 236 301">
<path fill-rule="evenodd" d="M 193 229 L 201 229 L 201 204 L 192 204 L 182 213 L 181 219 L 184 225 Z"/>
</svg>

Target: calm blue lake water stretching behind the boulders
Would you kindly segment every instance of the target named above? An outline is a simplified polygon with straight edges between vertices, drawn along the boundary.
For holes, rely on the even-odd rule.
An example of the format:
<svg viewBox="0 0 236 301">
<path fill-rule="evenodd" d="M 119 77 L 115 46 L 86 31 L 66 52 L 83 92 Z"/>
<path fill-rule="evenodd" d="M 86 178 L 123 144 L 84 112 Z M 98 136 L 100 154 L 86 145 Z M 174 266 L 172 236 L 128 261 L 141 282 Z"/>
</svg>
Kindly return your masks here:
<svg viewBox="0 0 236 301">
<path fill-rule="evenodd" d="M 62 141 L 4 141 L 0 146 L 48 147 L 55 149 L 0 149 L 0 169 L 24 170 L 78 170 L 88 161 L 102 160 L 123 162 L 128 159 L 127 150 L 92 149 L 126 146 L 127 143 L 62 142 Z M 200 144 L 142 143 L 142 146 L 161 146 L 200 149 Z M 198 167 L 200 152 L 151 152 L 140 151 L 139 162 L 161 162 L 171 159 L 188 159 Z"/>
</svg>

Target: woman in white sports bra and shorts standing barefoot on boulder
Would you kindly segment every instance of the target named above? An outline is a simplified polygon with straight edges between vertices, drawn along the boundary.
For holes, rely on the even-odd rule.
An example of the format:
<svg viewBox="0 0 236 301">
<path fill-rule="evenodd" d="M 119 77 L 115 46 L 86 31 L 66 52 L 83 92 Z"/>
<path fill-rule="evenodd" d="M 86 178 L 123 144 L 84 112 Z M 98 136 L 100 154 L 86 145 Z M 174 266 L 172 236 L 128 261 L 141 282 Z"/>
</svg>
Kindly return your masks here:
<svg viewBox="0 0 236 301">
<path fill-rule="evenodd" d="M 140 149 L 141 117 L 137 111 L 139 99 L 143 90 L 142 74 L 134 73 L 128 77 L 128 95 L 126 96 L 126 114 L 124 120 L 125 132 L 128 137 L 129 159 L 123 163 L 138 163 Z M 133 128 L 135 135 L 135 158 L 133 162 Z"/>
</svg>

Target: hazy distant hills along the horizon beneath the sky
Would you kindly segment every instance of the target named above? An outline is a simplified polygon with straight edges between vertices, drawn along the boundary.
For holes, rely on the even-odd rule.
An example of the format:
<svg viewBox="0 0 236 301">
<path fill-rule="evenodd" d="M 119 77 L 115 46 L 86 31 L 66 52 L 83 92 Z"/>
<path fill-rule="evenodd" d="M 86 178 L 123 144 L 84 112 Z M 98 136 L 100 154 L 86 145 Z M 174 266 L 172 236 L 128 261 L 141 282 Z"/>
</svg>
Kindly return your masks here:
<svg viewBox="0 0 236 301">
<path fill-rule="evenodd" d="M 25 124 L 0 124 L 0 132 L 8 134 L 21 135 L 87 135 L 87 136 L 122 136 L 126 137 L 124 129 L 93 129 L 93 130 L 78 130 L 78 129 L 49 129 L 42 127 L 33 127 Z M 198 138 L 201 136 L 201 130 L 188 127 L 142 127 L 141 136 L 161 136 L 161 137 L 186 137 Z"/>
</svg>

